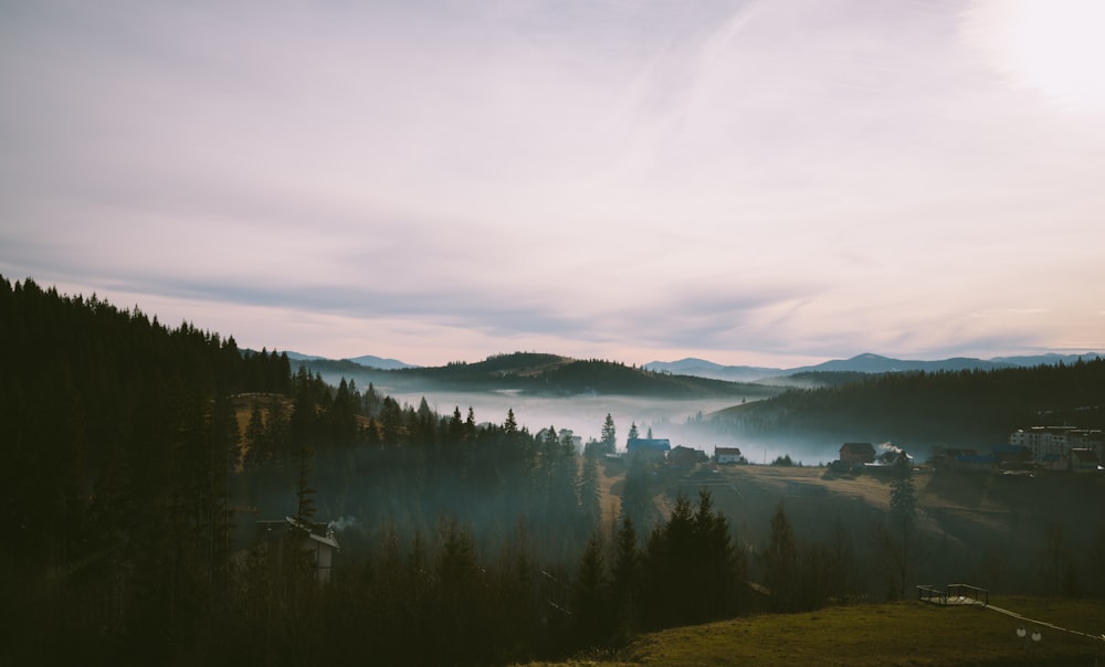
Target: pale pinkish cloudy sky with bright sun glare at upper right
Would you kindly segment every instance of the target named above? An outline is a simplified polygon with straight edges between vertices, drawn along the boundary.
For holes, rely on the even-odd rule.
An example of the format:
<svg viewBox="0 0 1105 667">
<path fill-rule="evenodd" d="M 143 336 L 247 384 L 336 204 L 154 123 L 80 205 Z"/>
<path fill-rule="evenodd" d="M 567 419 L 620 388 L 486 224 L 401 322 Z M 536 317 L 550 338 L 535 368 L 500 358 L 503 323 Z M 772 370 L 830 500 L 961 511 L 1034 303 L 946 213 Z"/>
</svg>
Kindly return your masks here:
<svg viewBox="0 0 1105 667">
<path fill-rule="evenodd" d="M 0 0 L 0 274 L 240 347 L 1105 351 L 1098 0 Z"/>
</svg>

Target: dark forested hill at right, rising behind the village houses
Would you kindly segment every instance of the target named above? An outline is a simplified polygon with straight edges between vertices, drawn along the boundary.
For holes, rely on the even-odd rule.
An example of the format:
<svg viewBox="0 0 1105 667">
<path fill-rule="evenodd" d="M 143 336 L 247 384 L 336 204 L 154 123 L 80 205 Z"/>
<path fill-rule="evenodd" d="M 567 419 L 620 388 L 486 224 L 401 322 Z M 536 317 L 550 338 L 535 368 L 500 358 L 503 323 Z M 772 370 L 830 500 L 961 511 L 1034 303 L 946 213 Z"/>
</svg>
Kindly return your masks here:
<svg viewBox="0 0 1105 667">
<path fill-rule="evenodd" d="M 1049 424 L 1105 426 L 1105 359 L 871 375 L 738 405 L 711 415 L 706 425 L 749 438 L 893 441 L 912 449 L 988 447 L 1017 428 Z"/>
</svg>

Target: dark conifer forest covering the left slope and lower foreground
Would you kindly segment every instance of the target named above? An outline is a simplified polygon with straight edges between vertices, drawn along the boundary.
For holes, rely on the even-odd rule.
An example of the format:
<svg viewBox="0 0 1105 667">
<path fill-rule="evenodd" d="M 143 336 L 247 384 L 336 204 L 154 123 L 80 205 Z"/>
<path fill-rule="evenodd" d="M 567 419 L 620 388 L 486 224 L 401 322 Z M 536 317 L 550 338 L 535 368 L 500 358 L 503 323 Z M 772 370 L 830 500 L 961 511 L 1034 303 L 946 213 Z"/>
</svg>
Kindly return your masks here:
<svg viewBox="0 0 1105 667">
<path fill-rule="evenodd" d="M 0 663 L 504 664 L 741 610 L 708 496 L 653 523 L 644 472 L 649 523 L 601 522 L 612 423 L 580 456 L 31 279 L 0 321 Z M 253 538 L 284 516 L 337 531 L 328 583 Z"/>
</svg>

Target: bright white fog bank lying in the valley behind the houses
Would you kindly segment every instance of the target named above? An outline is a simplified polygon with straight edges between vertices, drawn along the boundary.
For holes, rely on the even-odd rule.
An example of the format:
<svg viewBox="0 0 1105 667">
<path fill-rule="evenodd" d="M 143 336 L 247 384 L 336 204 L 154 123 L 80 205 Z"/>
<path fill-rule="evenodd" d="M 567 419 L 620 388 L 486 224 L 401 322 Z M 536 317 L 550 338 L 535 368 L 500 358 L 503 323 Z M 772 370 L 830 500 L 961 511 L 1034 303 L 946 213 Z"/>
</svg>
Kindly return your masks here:
<svg viewBox="0 0 1105 667">
<path fill-rule="evenodd" d="M 618 448 L 625 448 L 630 425 L 635 423 L 641 437 L 648 436 L 652 428 L 653 437 L 666 437 L 672 446 L 684 445 L 714 453 L 714 447 L 740 447 L 741 453 L 750 463 L 770 463 L 776 457 L 790 455 L 796 462 L 807 465 L 828 463 L 836 458 L 840 443 L 771 443 L 749 442 L 733 436 L 723 436 L 696 428 L 687 424 L 687 419 L 699 412 L 708 415 L 717 410 L 732 407 L 739 399 L 711 400 L 663 400 L 654 398 L 633 396 L 572 396 L 549 398 L 534 396 L 514 391 L 501 392 L 451 392 L 427 391 L 404 392 L 393 391 L 386 387 L 378 390 L 391 395 L 402 403 L 418 407 L 422 398 L 439 414 L 448 416 L 454 407 L 461 409 L 461 415 L 467 416 L 471 406 L 477 423 L 492 422 L 502 424 L 506 421 L 508 410 L 514 410 L 514 416 L 519 426 L 526 426 L 532 433 L 541 428 L 555 426 L 557 430 L 569 428 L 582 438 L 599 440 L 607 413 L 614 420 L 618 432 Z M 751 398 L 749 398 L 751 400 Z"/>
</svg>

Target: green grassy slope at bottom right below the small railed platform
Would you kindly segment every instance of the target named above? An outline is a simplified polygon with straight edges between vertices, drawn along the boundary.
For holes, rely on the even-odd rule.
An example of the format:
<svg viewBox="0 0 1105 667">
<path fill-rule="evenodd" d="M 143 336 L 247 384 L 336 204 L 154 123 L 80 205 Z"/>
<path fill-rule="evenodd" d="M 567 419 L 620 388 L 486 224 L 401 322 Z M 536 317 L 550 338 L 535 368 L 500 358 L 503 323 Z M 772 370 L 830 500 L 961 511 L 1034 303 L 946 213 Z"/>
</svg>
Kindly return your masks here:
<svg viewBox="0 0 1105 667">
<path fill-rule="evenodd" d="M 1105 601 L 997 597 L 1024 617 L 1091 635 L 1105 632 Z M 804 614 L 757 615 L 643 635 L 609 658 L 581 656 L 558 667 L 655 665 L 1105 665 L 1105 640 L 1041 626 L 1025 646 L 1017 627 L 1034 627 L 992 610 L 908 601 Z M 550 667 L 554 664 L 549 664 Z"/>
</svg>

